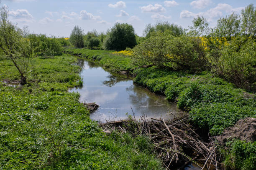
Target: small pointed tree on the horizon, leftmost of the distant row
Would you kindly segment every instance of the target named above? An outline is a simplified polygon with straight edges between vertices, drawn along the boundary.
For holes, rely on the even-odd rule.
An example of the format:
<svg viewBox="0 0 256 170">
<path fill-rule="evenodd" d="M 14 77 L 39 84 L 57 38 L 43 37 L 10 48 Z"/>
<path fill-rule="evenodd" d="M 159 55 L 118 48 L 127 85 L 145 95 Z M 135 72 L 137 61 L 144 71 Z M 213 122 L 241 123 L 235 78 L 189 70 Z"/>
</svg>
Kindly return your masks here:
<svg viewBox="0 0 256 170">
<path fill-rule="evenodd" d="M 84 39 L 83 39 L 84 31 L 82 28 L 79 28 L 78 25 L 74 26 L 70 34 L 70 42 L 78 48 L 84 47 Z"/>
</svg>

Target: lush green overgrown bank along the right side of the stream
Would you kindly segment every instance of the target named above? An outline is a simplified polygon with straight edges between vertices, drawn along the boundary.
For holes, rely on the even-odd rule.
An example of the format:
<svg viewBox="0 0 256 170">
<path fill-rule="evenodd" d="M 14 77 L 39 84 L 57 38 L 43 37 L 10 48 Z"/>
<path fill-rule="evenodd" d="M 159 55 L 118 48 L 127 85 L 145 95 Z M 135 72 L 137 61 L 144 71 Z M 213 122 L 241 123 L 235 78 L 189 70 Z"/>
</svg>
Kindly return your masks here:
<svg viewBox="0 0 256 170">
<path fill-rule="evenodd" d="M 114 55 L 112 51 L 65 49 L 72 55 L 93 60 L 102 67 L 118 72 L 132 70 L 136 75 L 134 82 L 155 93 L 165 95 L 168 100 L 177 102 L 180 109 L 189 113 L 191 123 L 211 136 L 220 135 L 225 128 L 233 126 L 245 117 L 256 117 L 255 94 L 236 88 L 233 84 L 215 77 L 210 72 L 189 74 L 186 72 L 159 70 L 156 67 L 133 70 L 131 59 L 123 55 Z M 241 169 L 241 165 L 253 164 L 256 143 L 243 143 L 239 140 L 227 141 L 224 152 L 225 166 Z M 238 151 L 238 146 L 243 150 Z M 251 148 L 251 150 L 250 150 Z M 246 150 L 250 150 L 248 153 Z M 238 159 L 240 155 L 246 155 Z M 246 166 L 248 168 L 248 166 Z M 252 169 L 255 167 L 251 167 Z M 248 168 L 250 169 L 250 167 Z"/>
</svg>

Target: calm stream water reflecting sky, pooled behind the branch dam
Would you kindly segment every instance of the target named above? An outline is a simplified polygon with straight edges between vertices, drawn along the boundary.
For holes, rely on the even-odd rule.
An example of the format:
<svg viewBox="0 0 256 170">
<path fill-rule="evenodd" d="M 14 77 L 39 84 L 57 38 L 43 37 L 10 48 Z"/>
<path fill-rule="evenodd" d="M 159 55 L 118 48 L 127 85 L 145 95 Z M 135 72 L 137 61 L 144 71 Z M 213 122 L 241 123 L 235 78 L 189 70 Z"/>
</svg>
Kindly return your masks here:
<svg viewBox="0 0 256 170">
<path fill-rule="evenodd" d="M 172 114 L 178 110 L 175 103 L 134 84 L 133 80 L 113 76 L 87 60 L 78 59 L 77 64 L 83 68 L 80 76 L 84 85 L 69 91 L 79 92 L 81 102 L 95 102 L 100 105 L 98 110 L 90 115 L 92 120 L 123 120 L 127 119 L 128 115 L 133 115 L 133 112 L 136 119 L 141 119 L 144 115 L 146 119 L 154 117 L 167 120 L 172 119 Z"/>
</svg>

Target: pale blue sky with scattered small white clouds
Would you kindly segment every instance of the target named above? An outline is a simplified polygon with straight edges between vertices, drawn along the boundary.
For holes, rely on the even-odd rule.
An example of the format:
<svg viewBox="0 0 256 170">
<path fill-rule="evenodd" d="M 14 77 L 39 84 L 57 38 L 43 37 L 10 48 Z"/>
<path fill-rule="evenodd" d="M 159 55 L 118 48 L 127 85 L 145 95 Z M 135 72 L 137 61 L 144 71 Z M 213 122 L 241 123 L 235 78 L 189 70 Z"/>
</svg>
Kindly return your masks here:
<svg viewBox="0 0 256 170">
<path fill-rule="evenodd" d="M 169 21 L 187 28 L 202 15 L 214 27 L 218 18 L 241 10 L 255 0 L 2 0 L 9 19 L 35 33 L 69 37 L 74 25 L 84 32 L 106 31 L 116 22 L 132 24 L 138 35 L 148 23 Z M 256 4 L 254 4 L 256 5 Z"/>
</svg>

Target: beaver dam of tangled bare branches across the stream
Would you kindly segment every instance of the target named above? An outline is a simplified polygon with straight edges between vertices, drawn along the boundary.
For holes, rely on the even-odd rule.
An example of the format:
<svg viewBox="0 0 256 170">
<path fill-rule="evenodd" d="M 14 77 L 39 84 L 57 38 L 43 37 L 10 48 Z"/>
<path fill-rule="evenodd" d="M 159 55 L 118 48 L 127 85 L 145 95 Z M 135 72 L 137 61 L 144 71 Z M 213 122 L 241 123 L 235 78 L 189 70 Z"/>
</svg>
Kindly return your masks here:
<svg viewBox="0 0 256 170">
<path fill-rule="evenodd" d="M 118 130 L 121 133 L 148 136 L 166 170 L 174 167 L 183 169 L 189 163 L 194 163 L 202 170 L 218 169 L 217 146 L 214 142 L 202 140 L 189 124 L 189 116 L 184 113 L 180 117 L 174 115 L 174 119 L 167 121 L 155 118 L 146 121 L 145 117 L 137 121 L 134 116 L 129 120 L 106 122 L 101 127 L 105 133 Z"/>
</svg>

